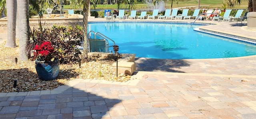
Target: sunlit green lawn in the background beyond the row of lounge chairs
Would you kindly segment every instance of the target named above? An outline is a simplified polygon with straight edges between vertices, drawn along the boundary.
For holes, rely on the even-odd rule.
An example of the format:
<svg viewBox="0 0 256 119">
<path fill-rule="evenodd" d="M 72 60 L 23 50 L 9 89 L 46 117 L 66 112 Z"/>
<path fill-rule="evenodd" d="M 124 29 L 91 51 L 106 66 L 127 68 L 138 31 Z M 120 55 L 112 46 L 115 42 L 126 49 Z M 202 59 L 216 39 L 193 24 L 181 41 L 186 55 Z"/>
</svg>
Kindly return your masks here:
<svg viewBox="0 0 256 119">
<path fill-rule="evenodd" d="M 220 8 L 223 9 L 222 4 L 223 0 L 200 0 L 200 6 L 201 8 Z M 172 5 L 172 8 L 180 8 L 180 7 L 186 7 L 186 8 L 196 8 L 196 7 L 189 7 L 189 6 L 198 6 L 198 2 L 196 0 L 179 0 L 179 4 L 177 5 L 175 2 Z M 226 9 L 246 9 L 248 7 L 248 1 L 247 0 L 241 0 L 240 6 L 236 6 L 234 8 L 226 8 Z M 167 0 L 166 2 L 166 8 L 171 8 L 171 1 Z M 70 8 L 69 5 L 65 5 L 64 9 L 73 9 Z M 93 6 L 91 6 L 91 10 L 93 10 Z M 104 4 L 104 5 L 97 5 L 96 9 L 104 10 L 104 9 L 117 9 L 117 5 L 110 5 L 110 4 Z M 125 6 L 123 5 L 122 9 L 125 9 Z M 136 10 L 148 10 L 148 4 L 137 4 Z"/>
</svg>

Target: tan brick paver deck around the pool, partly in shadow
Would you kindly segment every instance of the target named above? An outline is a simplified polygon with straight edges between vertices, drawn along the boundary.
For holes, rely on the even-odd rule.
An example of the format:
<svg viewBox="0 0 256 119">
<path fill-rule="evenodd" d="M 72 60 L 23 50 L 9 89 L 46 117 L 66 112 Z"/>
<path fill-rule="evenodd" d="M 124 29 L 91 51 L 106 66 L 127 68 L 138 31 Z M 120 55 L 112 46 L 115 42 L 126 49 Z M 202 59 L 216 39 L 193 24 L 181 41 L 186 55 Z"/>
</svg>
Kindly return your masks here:
<svg viewBox="0 0 256 119">
<path fill-rule="evenodd" d="M 236 22 L 218 24 L 205 27 L 256 37 Z M 0 119 L 256 118 L 256 56 L 135 62 L 128 82 L 75 79 L 52 91 L 0 93 Z"/>
</svg>

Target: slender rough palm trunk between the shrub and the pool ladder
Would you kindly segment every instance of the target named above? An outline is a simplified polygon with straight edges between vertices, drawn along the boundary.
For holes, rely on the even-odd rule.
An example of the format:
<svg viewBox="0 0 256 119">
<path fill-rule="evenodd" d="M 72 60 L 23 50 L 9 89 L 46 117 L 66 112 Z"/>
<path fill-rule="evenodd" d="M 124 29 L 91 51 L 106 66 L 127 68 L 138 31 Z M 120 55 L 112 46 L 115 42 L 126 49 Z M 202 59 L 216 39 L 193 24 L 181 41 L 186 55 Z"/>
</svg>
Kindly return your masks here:
<svg viewBox="0 0 256 119">
<path fill-rule="evenodd" d="M 85 62 L 88 62 L 88 36 L 87 36 L 87 28 L 88 28 L 88 9 L 86 8 L 86 5 L 89 6 L 90 5 L 90 0 L 86 0 L 86 2 L 84 2 L 84 14 L 83 14 L 83 34 L 84 34 L 84 41 L 83 41 L 83 54 L 84 54 L 84 59 Z"/>
</svg>

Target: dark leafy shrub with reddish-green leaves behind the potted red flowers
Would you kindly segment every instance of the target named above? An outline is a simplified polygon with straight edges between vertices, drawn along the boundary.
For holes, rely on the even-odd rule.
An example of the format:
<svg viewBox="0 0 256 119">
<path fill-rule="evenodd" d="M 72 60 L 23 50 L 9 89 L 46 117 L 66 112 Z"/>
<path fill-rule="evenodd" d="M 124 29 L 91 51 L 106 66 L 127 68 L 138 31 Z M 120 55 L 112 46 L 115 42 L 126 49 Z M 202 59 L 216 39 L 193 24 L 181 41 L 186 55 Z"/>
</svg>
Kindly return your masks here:
<svg viewBox="0 0 256 119">
<path fill-rule="evenodd" d="M 54 49 L 54 56 L 60 60 L 60 63 L 77 63 L 80 60 L 82 53 L 78 46 L 81 46 L 83 40 L 82 27 L 54 25 L 52 28 L 44 28 L 42 23 L 39 23 L 39 28 L 30 29 L 30 41 L 26 46 L 28 56 L 36 45 L 38 47 L 45 42 L 50 42 Z"/>
</svg>

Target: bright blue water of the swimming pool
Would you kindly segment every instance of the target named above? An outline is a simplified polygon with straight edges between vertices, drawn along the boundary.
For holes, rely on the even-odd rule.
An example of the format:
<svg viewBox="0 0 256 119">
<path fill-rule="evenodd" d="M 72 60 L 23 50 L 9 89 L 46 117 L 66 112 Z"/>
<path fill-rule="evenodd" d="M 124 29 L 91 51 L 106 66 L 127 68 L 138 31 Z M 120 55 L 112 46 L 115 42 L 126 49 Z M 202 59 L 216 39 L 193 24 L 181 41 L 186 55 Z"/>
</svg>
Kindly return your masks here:
<svg viewBox="0 0 256 119">
<path fill-rule="evenodd" d="M 119 53 L 157 59 L 208 59 L 256 55 L 256 45 L 194 31 L 190 24 L 89 23 L 119 46 Z M 110 42 L 111 45 L 111 42 Z M 112 50 L 112 48 L 110 48 Z"/>
</svg>

